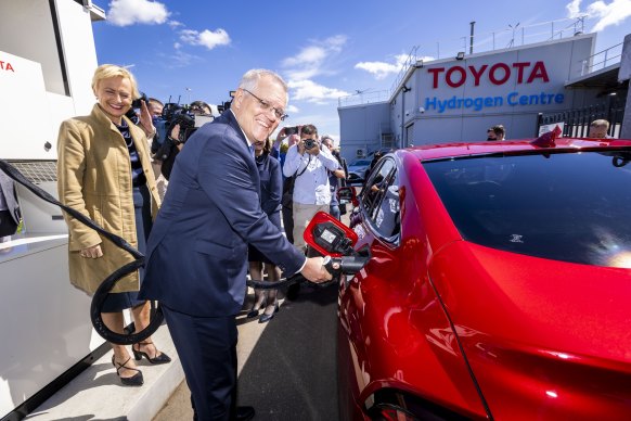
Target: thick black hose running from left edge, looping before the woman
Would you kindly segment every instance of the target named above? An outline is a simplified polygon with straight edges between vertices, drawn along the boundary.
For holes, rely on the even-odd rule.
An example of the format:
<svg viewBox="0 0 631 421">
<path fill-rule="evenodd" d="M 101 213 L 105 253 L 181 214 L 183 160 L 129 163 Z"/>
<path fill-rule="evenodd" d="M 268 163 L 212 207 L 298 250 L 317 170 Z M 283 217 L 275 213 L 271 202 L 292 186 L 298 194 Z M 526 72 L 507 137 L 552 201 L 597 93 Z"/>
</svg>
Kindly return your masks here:
<svg viewBox="0 0 631 421">
<path fill-rule="evenodd" d="M 104 340 L 117 345 L 136 344 L 137 342 L 144 341 L 145 339 L 151 336 L 159 328 L 164 320 L 164 315 L 162 312 L 159 304 L 156 304 L 153 301 L 150 302 L 151 312 L 149 326 L 137 333 L 132 334 L 116 333 L 105 326 L 101 317 L 101 308 L 103 307 L 103 303 L 105 302 L 107 294 L 116 285 L 116 282 L 118 282 L 118 280 L 120 280 L 126 275 L 129 275 L 138 270 L 140 267 L 144 266 L 144 255 L 134 247 L 132 247 L 131 244 L 129 244 L 121 237 L 118 237 L 110 231 L 106 231 L 96 222 L 94 222 L 92 219 L 88 218 L 80 212 L 77 212 L 76 209 L 62 204 L 60 201 L 51 196 L 49 193 L 47 193 L 39 187 L 35 186 L 26 177 L 24 177 L 24 175 L 20 173 L 20 170 L 17 170 L 14 166 L 9 164 L 8 162 L 0 160 L 0 169 L 2 169 L 4 174 L 7 174 L 14 181 L 21 183 L 22 186 L 30 190 L 38 197 L 42 199 L 48 203 L 61 207 L 67 214 L 69 214 L 77 220 L 81 221 L 83 225 L 92 228 L 94 231 L 99 232 L 102 237 L 112 241 L 116 246 L 131 254 L 134 260 L 128 263 L 127 265 L 112 272 L 112 275 L 105 278 L 105 280 L 99 285 L 99 288 L 94 292 L 94 295 L 92 296 L 92 303 L 90 304 L 90 319 L 92 320 L 92 326 L 94 327 L 96 333 L 99 333 Z"/>
</svg>

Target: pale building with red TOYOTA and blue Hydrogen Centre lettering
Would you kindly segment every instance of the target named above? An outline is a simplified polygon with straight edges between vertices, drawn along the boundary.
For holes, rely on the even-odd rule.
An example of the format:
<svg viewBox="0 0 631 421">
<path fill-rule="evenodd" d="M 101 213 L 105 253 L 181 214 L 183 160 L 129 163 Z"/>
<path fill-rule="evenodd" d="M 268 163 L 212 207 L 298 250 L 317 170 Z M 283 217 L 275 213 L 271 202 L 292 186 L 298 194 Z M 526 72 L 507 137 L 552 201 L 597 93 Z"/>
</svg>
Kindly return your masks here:
<svg viewBox="0 0 631 421">
<path fill-rule="evenodd" d="M 584 82 L 594 60 L 598 60 L 595 38 L 596 34 L 577 34 L 561 40 L 411 62 L 387 100 L 351 105 L 347 105 L 347 99 L 340 100 L 343 153 L 352 160 L 381 148 L 481 141 L 488 128 L 498 124 L 506 128 L 506 139 L 536 137 L 540 114 L 581 110 L 608 100 L 604 95 L 610 93 L 610 86 L 603 85 L 603 77 Z M 618 60 L 596 74 L 613 68 L 617 75 L 619 67 Z M 628 81 L 620 85 L 614 80 L 613 86 L 618 99 L 624 100 Z M 592 113 L 591 118 L 595 116 Z M 574 136 L 584 135 L 574 126 L 566 133 L 568 129 L 574 129 L 569 131 Z"/>
</svg>

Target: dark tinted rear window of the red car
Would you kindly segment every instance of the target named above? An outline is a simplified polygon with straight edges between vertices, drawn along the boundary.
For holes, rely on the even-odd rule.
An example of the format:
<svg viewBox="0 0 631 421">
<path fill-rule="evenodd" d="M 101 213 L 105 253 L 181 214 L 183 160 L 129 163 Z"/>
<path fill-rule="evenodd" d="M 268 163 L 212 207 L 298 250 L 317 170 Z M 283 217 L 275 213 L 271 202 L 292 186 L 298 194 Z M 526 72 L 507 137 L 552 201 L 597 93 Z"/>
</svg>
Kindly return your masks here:
<svg viewBox="0 0 631 421">
<path fill-rule="evenodd" d="M 467 241 L 588 265 L 631 267 L 631 152 L 424 163 Z"/>
</svg>

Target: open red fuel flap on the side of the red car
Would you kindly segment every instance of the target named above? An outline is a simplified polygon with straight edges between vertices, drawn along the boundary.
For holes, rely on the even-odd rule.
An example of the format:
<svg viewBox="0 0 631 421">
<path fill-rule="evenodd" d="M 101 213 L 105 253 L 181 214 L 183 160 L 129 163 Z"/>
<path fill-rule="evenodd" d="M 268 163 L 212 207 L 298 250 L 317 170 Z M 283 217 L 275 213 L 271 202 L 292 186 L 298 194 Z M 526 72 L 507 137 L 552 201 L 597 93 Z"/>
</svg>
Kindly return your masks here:
<svg viewBox="0 0 631 421">
<path fill-rule="evenodd" d="M 357 233 L 324 212 L 317 213 L 307 229 L 305 241 L 322 255 L 332 257 L 350 256 L 355 252 Z"/>
</svg>

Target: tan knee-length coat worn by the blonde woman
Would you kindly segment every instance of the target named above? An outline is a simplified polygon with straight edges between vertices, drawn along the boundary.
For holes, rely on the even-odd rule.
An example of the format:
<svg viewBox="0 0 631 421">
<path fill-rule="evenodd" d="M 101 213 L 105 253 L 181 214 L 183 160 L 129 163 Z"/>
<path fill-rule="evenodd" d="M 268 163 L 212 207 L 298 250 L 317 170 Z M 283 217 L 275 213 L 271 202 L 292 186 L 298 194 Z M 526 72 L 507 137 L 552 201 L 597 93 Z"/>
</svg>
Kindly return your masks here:
<svg viewBox="0 0 631 421">
<path fill-rule="evenodd" d="M 127 117 L 123 118 L 130 127 L 146 176 L 155 218 L 159 196 L 151 168 L 149 143 L 142 129 Z M 99 104 L 94 105 L 89 116 L 62 123 L 57 139 L 60 201 L 138 247 L 132 188 L 131 162 L 125 139 Z M 92 294 L 110 273 L 133 258 L 110 240 L 102 240 L 93 229 L 66 214 L 64 216 L 69 231 L 70 282 Z M 92 259 L 79 256 L 81 248 L 96 244 L 101 244 L 103 257 Z M 121 279 L 113 292 L 138 291 L 139 288 L 136 272 Z"/>
</svg>

